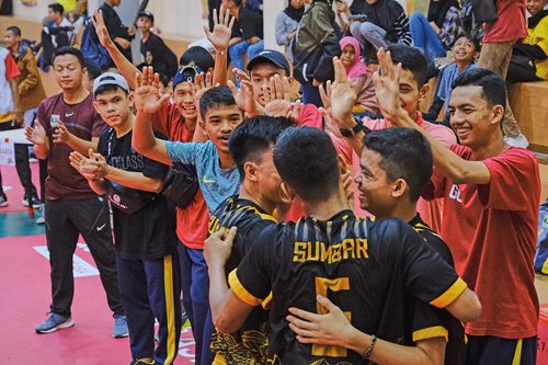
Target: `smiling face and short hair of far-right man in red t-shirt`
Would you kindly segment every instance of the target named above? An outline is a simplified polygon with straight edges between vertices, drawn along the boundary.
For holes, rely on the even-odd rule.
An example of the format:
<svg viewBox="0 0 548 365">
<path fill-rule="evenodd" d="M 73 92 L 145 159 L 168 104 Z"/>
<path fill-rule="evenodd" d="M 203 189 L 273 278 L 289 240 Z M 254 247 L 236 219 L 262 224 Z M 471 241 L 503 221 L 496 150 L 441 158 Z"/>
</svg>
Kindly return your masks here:
<svg viewBox="0 0 548 365">
<path fill-rule="evenodd" d="M 464 146 L 477 150 L 500 132 L 502 105 L 490 106 L 478 85 L 458 87 L 449 100 L 450 125 Z"/>
</svg>

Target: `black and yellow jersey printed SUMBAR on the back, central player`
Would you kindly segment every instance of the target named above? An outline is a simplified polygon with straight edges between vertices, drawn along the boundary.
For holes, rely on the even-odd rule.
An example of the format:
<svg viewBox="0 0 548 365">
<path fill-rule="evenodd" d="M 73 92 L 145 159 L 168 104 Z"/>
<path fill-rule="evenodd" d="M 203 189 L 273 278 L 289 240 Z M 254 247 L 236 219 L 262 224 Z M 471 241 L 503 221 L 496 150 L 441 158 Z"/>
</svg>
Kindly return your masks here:
<svg viewBox="0 0 548 365">
<path fill-rule="evenodd" d="M 407 293 L 443 308 L 466 288 L 455 270 L 399 219 L 372 221 L 343 210 L 326 221 L 308 217 L 269 227 L 256 240 L 229 283 L 249 305 L 270 300 L 271 364 L 363 363 L 350 350 L 296 340 L 285 319 L 288 308 L 324 312 L 318 294 L 358 330 L 401 343 Z"/>
</svg>

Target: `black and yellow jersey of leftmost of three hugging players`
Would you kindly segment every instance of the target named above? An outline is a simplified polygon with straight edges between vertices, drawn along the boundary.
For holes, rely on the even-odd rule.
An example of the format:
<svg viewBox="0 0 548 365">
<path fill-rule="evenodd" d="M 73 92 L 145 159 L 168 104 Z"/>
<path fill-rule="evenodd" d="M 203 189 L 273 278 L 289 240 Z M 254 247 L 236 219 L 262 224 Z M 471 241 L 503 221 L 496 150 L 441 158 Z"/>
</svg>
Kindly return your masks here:
<svg viewBox="0 0 548 365">
<path fill-rule="evenodd" d="M 256 237 L 276 220 L 251 201 L 230 196 L 221 203 L 209 219 L 208 232 L 238 227 L 232 253 L 227 262 L 227 275 L 242 261 L 256 242 Z M 215 332 L 212 350 L 216 353 L 215 364 L 251 365 L 266 364 L 269 347 L 269 312 L 254 308 L 236 333 Z"/>
</svg>

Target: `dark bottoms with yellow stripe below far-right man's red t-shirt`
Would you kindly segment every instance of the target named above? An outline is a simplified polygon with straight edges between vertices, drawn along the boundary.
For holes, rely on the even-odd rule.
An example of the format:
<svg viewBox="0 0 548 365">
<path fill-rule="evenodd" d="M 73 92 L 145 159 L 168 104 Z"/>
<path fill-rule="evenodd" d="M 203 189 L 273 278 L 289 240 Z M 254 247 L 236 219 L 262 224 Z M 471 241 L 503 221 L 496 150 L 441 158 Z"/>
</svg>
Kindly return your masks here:
<svg viewBox="0 0 548 365">
<path fill-rule="evenodd" d="M 468 335 L 467 365 L 535 365 L 537 337 L 510 340 L 490 335 Z"/>
</svg>

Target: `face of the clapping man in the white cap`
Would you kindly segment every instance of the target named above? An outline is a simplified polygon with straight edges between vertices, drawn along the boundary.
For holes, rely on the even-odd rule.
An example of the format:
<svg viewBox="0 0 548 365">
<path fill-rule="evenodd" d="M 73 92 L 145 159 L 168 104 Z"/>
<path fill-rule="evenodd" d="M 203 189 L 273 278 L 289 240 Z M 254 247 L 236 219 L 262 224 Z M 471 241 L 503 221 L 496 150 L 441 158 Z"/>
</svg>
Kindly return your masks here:
<svg viewBox="0 0 548 365">
<path fill-rule="evenodd" d="M 121 88 L 95 94 L 93 105 L 103 121 L 115 129 L 124 127 L 132 113 L 132 98 Z"/>
</svg>

